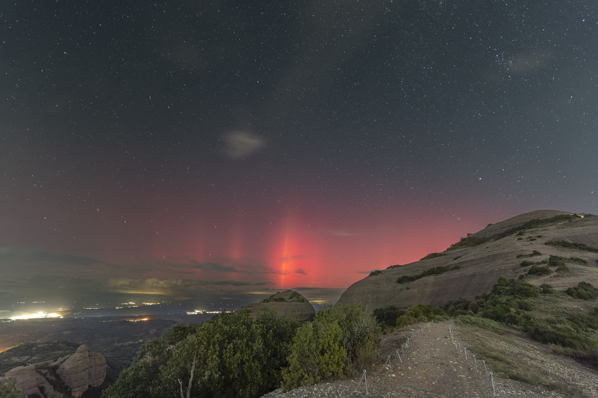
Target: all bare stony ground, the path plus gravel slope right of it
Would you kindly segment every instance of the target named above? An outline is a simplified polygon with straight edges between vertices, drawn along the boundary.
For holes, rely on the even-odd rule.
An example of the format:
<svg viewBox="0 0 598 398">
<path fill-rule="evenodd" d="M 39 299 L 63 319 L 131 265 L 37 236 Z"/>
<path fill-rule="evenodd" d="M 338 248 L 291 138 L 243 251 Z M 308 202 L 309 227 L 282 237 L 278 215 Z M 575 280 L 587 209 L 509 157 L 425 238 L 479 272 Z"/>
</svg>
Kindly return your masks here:
<svg viewBox="0 0 598 398">
<path fill-rule="evenodd" d="M 535 366 L 546 369 L 547 377 L 562 385 L 557 390 L 548 390 L 544 385 L 532 386 L 514 380 L 505 380 L 499 375 L 484 371 L 484 363 L 474 362 L 472 352 L 467 358 L 463 350 L 468 346 L 462 338 L 461 327 L 452 326 L 453 337 L 461 344 L 462 351 L 455 348 L 449 332 L 450 321 L 419 324 L 407 331 L 395 332 L 385 338 L 382 345 L 383 361 L 365 375 L 356 375 L 345 380 L 323 382 L 312 387 L 300 387 L 284 393 L 272 391 L 264 398 L 311 398 L 311 397 L 598 397 L 598 372 L 584 368 L 568 357 L 548 355 L 545 346 L 535 343 L 525 349 L 509 345 L 514 355 L 525 356 Z M 418 335 L 419 334 L 419 335 Z M 413 335 L 413 337 L 411 337 Z M 472 336 L 467 334 L 467 336 Z M 404 348 L 401 360 L 401 343 L 410 337 L 410 347 Z M 529 344 L 526 342 L 525 344 Z M 488 369 L 490 372 L 490 369 Z M 365 385 L 367 378 L 367 392 Z"/>
</svg>

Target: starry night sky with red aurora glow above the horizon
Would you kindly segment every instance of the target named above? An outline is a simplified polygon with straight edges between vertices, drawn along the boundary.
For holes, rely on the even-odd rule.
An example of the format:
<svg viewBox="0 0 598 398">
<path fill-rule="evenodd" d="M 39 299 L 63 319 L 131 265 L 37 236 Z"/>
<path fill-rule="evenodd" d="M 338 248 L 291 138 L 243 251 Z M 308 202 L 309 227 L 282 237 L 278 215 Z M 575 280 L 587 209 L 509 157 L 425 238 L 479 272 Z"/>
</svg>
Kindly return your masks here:
<svg viewBox="0 0 598 398">
<path fill-rule="evenodd" d="M 488 223 L 596 214 L 594 7 L 3 2 L 0 310 L 338 297 Z"/>
</svg>

